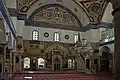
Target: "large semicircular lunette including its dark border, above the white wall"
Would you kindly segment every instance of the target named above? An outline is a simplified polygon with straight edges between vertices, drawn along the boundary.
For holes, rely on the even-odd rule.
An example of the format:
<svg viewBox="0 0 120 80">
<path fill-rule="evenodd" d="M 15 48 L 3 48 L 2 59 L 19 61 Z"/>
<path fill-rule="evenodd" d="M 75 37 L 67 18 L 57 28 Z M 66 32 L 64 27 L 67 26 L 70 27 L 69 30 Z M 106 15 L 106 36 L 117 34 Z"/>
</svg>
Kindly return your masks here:
<svg viewBox="0 0 120 80">
<path fill-rule="evenodd" d="M 83 26 L 74 12 L 60 4 L 47 4 L 39 7 L 28 16 L 26 25 L 75 31 Z"/>
</svg>

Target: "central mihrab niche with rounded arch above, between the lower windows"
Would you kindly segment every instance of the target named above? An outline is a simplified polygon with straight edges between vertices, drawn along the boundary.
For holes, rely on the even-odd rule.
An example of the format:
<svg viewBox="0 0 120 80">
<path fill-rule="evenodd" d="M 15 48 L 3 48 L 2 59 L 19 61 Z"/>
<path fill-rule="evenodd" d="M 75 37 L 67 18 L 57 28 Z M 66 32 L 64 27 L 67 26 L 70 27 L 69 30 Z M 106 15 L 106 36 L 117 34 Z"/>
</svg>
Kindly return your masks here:
<svg viewBox="0 0 120 80">
<path fill-rule="evenodd" d="M 53 44 L 46 50 L 46 68 L 54 70 L 62 70 L 66 62 L 65 56 L 69 54 L 66 48 L 59 44 Z"/>
</svg>

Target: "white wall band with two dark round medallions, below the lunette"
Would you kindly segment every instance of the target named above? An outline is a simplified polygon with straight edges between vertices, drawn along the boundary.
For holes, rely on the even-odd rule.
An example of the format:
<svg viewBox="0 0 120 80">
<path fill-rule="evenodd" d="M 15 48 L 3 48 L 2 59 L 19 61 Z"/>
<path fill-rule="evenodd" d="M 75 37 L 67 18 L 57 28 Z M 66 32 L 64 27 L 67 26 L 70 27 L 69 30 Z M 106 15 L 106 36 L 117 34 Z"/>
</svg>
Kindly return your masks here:
<svg viewBox="0 0 120 80">
<path fill-rule="evenodd" d="M 32 31 L 37 30 L 39 31 L 39 40 L 40 41 L 50 41 L 53 42 L 54 40 L 54 33 L 58 32 L 60 34 L 60 42 L 62 43 L 73 43 L 74 42 L 74 35 L 78 34 L 77 31 L 71 30 L 61 30 L 61 29 L 52 29 L 52 28 L 41 28 L 41 27 L 32 27 L 32 26 L 24 26 L 23 28 L 23 39 L 25 40 L 32 40 Z M 44 33 L 48 32 L 49 37 L 44 37 Z M 69 35 L 69 39 L 65 39 L 65 35 Z"/>
</svg>

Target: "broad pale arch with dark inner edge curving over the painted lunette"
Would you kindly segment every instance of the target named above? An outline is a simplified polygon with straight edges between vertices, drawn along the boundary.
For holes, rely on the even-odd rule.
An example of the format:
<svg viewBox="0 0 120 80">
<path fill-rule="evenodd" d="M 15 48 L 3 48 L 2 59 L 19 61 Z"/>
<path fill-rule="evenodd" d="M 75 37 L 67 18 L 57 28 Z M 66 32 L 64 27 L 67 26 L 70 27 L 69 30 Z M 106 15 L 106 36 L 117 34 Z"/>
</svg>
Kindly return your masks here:
<svg viewBox="0 0 120 80">
<path fill-rule="evenodd" d="M 72 0 L 69 1 L 70 4 L 66 0 L 62 2 L 57 2 L 56 0 L 48 0 L 43 3 L 40 1 L 37 1 L 34 5 L 31 6 L 31 8 L 27 11 L 27 19 L 31 19 L 34 17 L 39 11 L 46 7 L 53 7 L 53 6 L 59 6 L 65 10 L 67 10 L 70 14 L 73 15 L 73 17 L 77 20 L 80 27 L 88 24 L 89 18 L 86 15 L 85 11 L 80 8 L 76 3 L 74 3 Z M 77 11 L 75 10 L 77 9 Z M 86 22 L 83 21 L 83 16 Z"/>
</svg>

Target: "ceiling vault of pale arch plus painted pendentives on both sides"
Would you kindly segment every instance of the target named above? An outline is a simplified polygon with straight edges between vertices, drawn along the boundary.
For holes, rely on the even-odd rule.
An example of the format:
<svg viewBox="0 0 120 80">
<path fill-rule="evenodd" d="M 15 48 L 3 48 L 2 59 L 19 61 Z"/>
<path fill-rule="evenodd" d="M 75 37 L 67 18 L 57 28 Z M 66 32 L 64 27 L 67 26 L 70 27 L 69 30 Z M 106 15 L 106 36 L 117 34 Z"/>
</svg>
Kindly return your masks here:
<svg viewBox="0 0 120 80">
<path fill-rule="evenodd" d="M 52 3 L 52 1 L 55 2 Z M 65 6 L 66 4 L 68 5 L 68 3 L 64 3 L 65 1 L 66 0 L 51 0 L 51 4 L 50 0 L 17 0 L 17 13 L 19 15 L 25 15 L 29 21 L 32 21 L 32 18 L 41 10 L 48 7 L 57 6 L 70 13 L 76 19 L 79 26 L 83 27 L 87 24 L 101 23 L 105 9 L 108 5 L 108 2 L 106 2 L 105 0 L 70 0 L 69 2 L 75 5 L 71 9 L 68 6 Z M 33 6 L 37 7 L 32 8 Z M 31 11 L 31 9 L 34 10 Z M 81 11 L 83 13 L 81 13 Z M 85 18 L 88 20 L 86 23 L 84 23 L 84 20 L 81 19 L 84 19 L 84 15 L 79 16 L 81 14 L 86 15 Z"/>
</svg>

